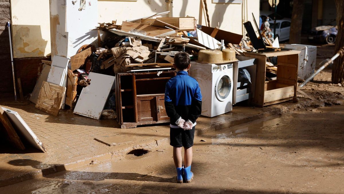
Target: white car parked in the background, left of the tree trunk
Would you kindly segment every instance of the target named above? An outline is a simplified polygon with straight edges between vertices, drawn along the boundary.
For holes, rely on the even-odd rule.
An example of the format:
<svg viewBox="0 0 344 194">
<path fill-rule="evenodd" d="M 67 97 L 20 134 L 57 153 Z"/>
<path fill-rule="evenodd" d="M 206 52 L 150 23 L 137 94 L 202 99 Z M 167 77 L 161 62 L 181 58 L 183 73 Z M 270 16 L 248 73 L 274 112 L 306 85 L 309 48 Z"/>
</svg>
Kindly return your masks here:
<svg viewBox="0 0 344 194">
<path fill-rule="evenodd" d="M 273 28 L 275 25 L 273 21 L 269 21 L 269 23 L 270 29 L 273 32 Z M 278 41 L 289 40 L 290 23 L 290 19 L 288 18 L 276 20 L 276 35 L 274 36 L 274 38 L 276 39 L 278 37 Z"/>
</svg>

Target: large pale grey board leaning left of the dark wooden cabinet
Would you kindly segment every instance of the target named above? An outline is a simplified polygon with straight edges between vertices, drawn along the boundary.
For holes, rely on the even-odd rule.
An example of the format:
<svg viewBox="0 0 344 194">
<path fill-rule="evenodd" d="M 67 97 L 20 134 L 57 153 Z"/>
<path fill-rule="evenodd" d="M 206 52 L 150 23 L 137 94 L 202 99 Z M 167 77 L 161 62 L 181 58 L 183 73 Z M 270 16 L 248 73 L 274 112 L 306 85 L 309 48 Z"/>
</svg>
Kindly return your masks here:
<svg viewBox="0 0 344 194">
<path fill-rule="evenodd" d="M 115 77 L 90 72 L 90 85 L 83 88 L 74 108 L 74 113 L 99 119 L 111 89 L 115 86 Z"/>
</svg>

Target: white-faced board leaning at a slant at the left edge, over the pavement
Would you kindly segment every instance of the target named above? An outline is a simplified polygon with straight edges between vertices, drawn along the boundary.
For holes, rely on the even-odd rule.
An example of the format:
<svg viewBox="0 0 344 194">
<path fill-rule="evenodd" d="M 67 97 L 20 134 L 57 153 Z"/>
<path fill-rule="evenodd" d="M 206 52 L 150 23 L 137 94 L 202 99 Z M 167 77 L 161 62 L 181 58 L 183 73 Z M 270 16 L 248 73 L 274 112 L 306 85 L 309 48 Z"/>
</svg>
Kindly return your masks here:
<svg viewBox="0 0 344 194">
<path fill-rule="evenodd" d="M 25 138 L 34 148 L 37 148 L 43 152 L 46 152 L 46 149 L 43 143 L 38 139 L 38 137 L 33 133 L 28 124 L 25 123 L 23 118 L 13 110 L 2 107 L 4 113 L 8 116 L 13 127 L 20 133 L 20 135 Z"/>
</svg>

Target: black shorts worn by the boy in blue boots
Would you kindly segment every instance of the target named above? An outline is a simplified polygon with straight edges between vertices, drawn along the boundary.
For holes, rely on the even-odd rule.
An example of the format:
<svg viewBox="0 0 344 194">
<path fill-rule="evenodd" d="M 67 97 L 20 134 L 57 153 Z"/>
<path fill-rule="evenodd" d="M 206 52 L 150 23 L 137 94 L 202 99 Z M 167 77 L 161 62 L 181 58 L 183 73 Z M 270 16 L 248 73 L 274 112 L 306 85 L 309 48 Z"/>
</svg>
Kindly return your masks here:
<svg viewBox="0 0 344 194">
<path fill-rule="evenodd" d="M 190 130 L 170 127 L 170 145 L 173 147 L 190 148 L 193 146 L 195 126 Z"/>
</svg>

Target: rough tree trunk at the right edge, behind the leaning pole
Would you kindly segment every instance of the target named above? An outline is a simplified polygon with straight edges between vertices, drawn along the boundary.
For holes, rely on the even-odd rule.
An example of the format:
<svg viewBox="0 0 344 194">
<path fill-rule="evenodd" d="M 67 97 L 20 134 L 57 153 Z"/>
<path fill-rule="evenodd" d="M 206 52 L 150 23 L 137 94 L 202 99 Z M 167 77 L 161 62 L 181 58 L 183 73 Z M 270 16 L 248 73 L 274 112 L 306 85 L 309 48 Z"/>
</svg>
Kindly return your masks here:
<svg viewBox="0 0 344 194">
<path fill-rule="evenodd" d="M 337 7 L 337 28 L 338 33 L 336 37 L 334 51 L 335 54 L 340 48 L 344 46 L 344 1 L 335 0 Z M 338 84 L 344 81 L 344 57 L 339 56 L 333 61 L 332 67 L 332 83 Z"/>
</svg>

